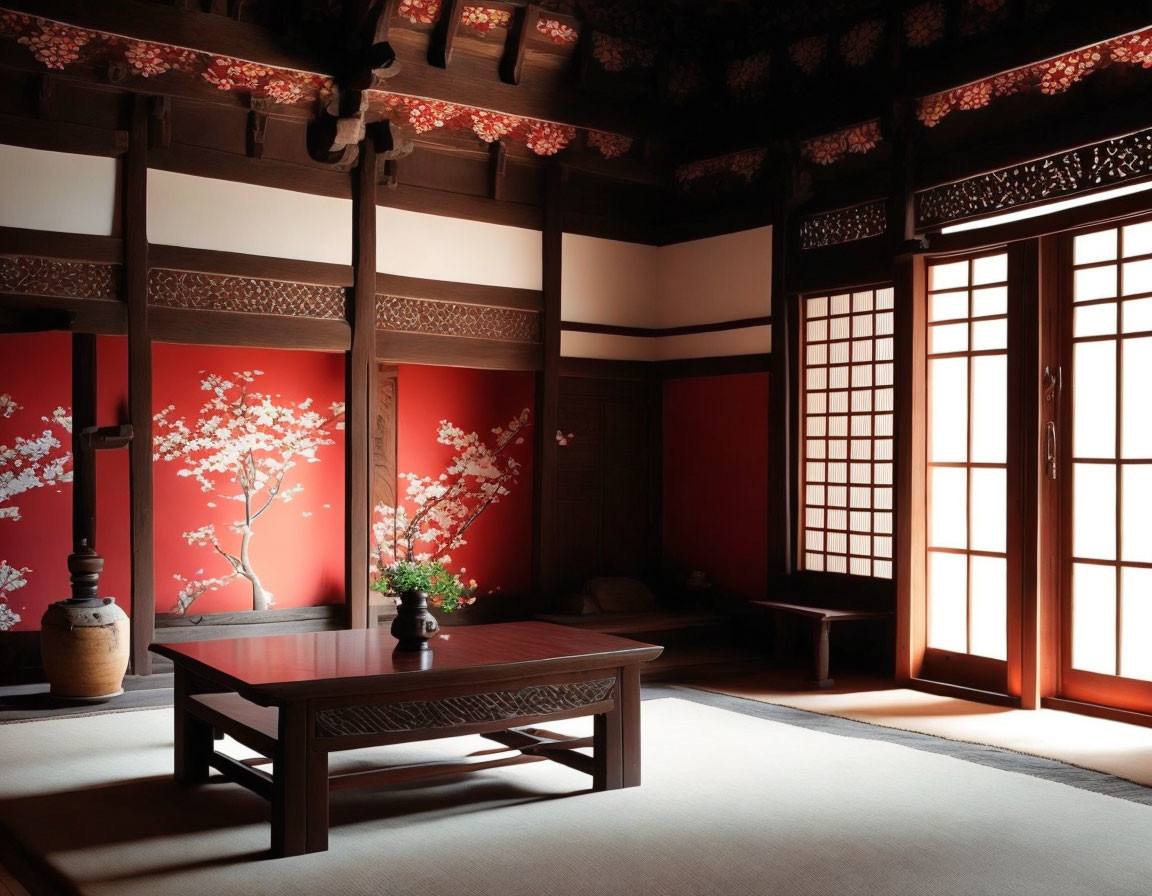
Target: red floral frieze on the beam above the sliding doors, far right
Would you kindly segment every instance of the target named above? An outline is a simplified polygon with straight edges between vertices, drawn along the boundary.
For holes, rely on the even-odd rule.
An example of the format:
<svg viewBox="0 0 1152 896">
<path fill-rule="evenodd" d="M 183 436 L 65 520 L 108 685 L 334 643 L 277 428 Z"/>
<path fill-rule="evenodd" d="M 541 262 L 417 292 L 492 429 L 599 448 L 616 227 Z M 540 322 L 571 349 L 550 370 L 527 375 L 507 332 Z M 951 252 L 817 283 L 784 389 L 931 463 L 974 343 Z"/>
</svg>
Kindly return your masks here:
<svg viewBox="0 0 1152 896">
<path fill-rule="evenodd" d="M 917 101 L 916 117 L 925 127 L 934 128 L 954 112 L 984 108 L 1001 97 L 1063 93 L 1112 64 L 1152 68 L 1152 28 L 924 97 Z"/>
</svg>

